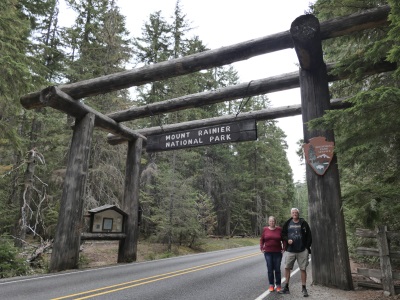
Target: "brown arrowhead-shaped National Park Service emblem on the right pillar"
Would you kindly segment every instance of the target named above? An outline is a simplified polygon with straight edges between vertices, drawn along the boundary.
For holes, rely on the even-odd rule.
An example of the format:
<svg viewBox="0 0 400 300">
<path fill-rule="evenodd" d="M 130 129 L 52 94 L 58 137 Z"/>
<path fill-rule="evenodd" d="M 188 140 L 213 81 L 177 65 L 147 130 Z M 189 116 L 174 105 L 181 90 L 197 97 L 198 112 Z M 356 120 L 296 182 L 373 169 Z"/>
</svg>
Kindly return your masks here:
<svg viewBox="0 0 400 300">
<path fill-rule="evenodd" d="M 318 175 L 324 175 L 333 158 L 333 142 L 327 142 L 323 136 L 310 139 L 304 144 L 304 155 L 307 163 Z"/>
</svg>

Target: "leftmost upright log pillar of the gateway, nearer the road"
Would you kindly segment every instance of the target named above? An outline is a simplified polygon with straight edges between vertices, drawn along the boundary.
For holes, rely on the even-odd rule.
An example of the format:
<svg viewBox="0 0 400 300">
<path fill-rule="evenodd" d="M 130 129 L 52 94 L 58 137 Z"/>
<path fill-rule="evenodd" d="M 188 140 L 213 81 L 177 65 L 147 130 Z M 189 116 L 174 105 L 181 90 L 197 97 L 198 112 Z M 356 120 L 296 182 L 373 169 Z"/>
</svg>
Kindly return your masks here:
<svg viewBox="0 0 400 300">
<path fill-rule="evenodd" d="M 89 166 L 95 115 L 76 121 L 51 254 L 50 272 L 78 267 L 83 196 Z"/>
</svg>

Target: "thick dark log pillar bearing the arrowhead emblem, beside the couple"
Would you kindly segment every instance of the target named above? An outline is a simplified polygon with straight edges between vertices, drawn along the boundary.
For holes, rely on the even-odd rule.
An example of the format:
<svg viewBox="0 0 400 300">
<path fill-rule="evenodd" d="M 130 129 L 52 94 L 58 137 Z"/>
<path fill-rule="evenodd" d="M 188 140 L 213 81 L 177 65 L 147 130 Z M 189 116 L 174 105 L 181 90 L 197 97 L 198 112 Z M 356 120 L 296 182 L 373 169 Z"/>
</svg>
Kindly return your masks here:
<svg viewBox="0 0 400 300">
<path fill-rule="evenodd" d="M 300 91 L 304 143 L 323 136 L 334 142 L 332 130 L 309 130 L 307 122 L 322 117 L 330 108 L 326 65 L 323 61 L 320 26 L 313 15 L 300 16 L 290 29 L 300 62 Z M 324 175 L 307 164 L 309 222 L 313 234 L 312 274 L 316 284 L 353 289 L 336 155 Z"/>
</svg>

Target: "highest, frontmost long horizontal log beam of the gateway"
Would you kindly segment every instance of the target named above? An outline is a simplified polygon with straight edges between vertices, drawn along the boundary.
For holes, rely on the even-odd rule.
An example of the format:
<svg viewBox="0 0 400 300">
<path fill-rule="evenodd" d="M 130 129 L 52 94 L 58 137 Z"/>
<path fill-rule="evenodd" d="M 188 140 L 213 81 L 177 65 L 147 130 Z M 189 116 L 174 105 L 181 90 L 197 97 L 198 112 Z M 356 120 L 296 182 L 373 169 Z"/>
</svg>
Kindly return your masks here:
<svg viewBox="0 0 400 300">
<path fill-rule="evenodd" d="M 387 24 L 389 11 L 389 6 L 382 6 L 376 9 L 355 13 L 347 17 L 322 22 L 321 38 L 329 39 L 367 28 L 385 25 Z M 293 48 L 289 30 L 138 69 L 127 70 L 76 83 L 64 84 L 58 87 L 71 98 L 77 100 L 132 86 L 139 86 L 157 80 L 190 74 L 204 69 L 220 67 L 287 48 Z M 20 101 L 22 106 L 26 109 L 43 107 L 43 103 L 40 101 L 40 92 L 22 96 Z"/>
</svg>

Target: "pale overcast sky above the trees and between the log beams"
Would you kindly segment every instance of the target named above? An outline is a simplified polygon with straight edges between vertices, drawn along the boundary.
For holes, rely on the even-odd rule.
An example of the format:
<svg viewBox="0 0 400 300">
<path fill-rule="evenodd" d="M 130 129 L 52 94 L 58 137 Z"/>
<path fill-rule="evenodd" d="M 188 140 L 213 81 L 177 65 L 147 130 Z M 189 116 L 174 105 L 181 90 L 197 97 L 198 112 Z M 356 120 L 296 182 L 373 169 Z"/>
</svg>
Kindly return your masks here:
<svg viewBox="0 0 400 300">
<path fill-rule="evenodd" d="M 315 0 L 180 0 L 186 20 L 191 22 L 192 34 L 210 49 L 230 46 L 290 29 L 291 23 L 303 15 Z M 176 0 L 117 0 L 126 16 L 126 27 L 134 37 L 141 36 L 149 15 L 161 11 L 168 21 Z M 294 49 L 261 55 L 233 64 L 240 82 L 266 78 L 298 70 Z M 273 107 L 300 104 L 300 90 L 291 89 L 267 95 Z M 304 182 L 305 167 L 296 155 L 297 141 L 303 137 L 301 116 L 282 118 L 278 125 L 287 135 L 288 159 L 294 181 Z"/>
</svg>

